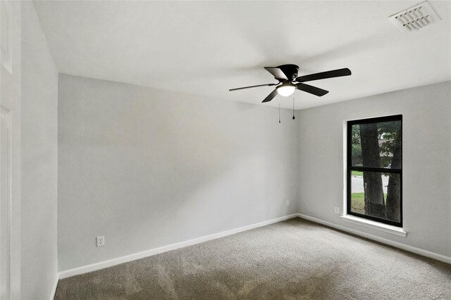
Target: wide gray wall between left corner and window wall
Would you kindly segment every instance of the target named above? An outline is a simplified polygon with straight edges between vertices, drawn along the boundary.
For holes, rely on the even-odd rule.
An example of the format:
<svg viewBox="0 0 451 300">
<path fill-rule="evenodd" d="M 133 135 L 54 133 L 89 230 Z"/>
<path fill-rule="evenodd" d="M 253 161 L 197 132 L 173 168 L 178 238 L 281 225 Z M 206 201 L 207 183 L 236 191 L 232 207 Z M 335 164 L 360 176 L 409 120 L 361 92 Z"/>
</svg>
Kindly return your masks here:
<svg viewBox="0 0 451 300">
<path fill-rule="evenodd" d="M 297 123 L 282 114 L 60 74 L 59 270 L 297 211 Z"/>
</svg>

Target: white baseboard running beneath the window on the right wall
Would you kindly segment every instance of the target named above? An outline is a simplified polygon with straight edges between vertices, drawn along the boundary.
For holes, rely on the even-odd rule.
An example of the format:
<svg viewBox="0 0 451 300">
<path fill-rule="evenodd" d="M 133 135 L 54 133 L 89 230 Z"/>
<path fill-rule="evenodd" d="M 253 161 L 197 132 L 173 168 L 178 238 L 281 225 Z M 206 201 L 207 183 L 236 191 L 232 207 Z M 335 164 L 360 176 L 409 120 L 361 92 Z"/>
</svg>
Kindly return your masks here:
<svg viewBox="0 0 451 300">
<path fill-rule="evenodd" d="M 442 255 L 442 254 L 437 254 L 437 253 L 430 252 L 430 251 L 427 251 L 427 250 L 424 250 L 424 249 L 419 249 L 419 248 L 416 248 L 416 247 L 409 246 L 407 244 L 402 244 L 400 242 L 394 242 L 392 240 L 385 239 L 384 237 L 378 237 L 377 235 L 371 235 L 370 233 L 363 233 L 362 231 L 355 230 L 355 229 L 352 229 L 352 228 L 347 228 L 347 227 L 344 227 L 344 226 L 340 226 L 340 225 L 337 225 L 335 223 L 330 223 L 328 221 L 323 221 L 321 219 L 316 219 L 316 218 L 314 218 L 312 216 L 306 216 L 304 214 L 296 214 L 296 215 L 299 216 L 299 218 L 306 219 L 306 220 L 309 220 L 309 221 L 313 221 L 315 223 L 320 223 L 320 224 L 323 224 L 323 225 L 328 226 L 328 227 L 332 227 L 332 228 L 335 228 L 335 229 L 338 229 L 338 230 L 345 231 L 347 233 L 352 233 L 353 235 L 359 235 L 361 237 L 366 237 L 369 240 L 374 240 L 376 242 L 381 242 L 383 244 L 388 244 L 390 246 L 397 247 L 397 248 L 406 250 L 408 252 L 413 252 L 415 254 L 419 254 L 419 255 L 422 255 L 422 256 L 430 257 L 431 259 L 437 259 L 438 261 L 443 261 L 444 263 L 451 263 L 451 257 L 449 257 L 449 256 L 445 256 L 445 255 Z"/>
</svg>

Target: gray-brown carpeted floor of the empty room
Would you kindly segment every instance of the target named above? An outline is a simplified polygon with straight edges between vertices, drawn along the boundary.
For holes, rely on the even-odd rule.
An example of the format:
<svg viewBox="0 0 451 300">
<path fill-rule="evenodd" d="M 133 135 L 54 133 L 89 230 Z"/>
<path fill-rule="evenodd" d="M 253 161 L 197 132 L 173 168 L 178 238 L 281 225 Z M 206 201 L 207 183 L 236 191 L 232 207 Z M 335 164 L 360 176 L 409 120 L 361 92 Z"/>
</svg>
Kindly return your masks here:
<svg viewBox="0 0 451 300">
<path fill-rule="evenodd" d="M 291 219 L 60 280 L 55 299 L 451 299 L 451 265 Z"/>
</svg>

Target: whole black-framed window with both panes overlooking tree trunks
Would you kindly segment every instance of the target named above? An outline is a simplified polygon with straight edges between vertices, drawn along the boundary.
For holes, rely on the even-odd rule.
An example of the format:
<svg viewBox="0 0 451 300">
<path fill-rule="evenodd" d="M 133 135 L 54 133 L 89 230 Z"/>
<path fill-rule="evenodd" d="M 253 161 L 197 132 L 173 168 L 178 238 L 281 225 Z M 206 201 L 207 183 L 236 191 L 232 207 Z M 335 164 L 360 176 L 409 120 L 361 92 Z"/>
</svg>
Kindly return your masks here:
<svg viewBox="0 0 451 300">
<path fill-rule="evenodd" d="M 402 227 L 402 116 L 347 122 L 347 214 Z"/>
</svg>

